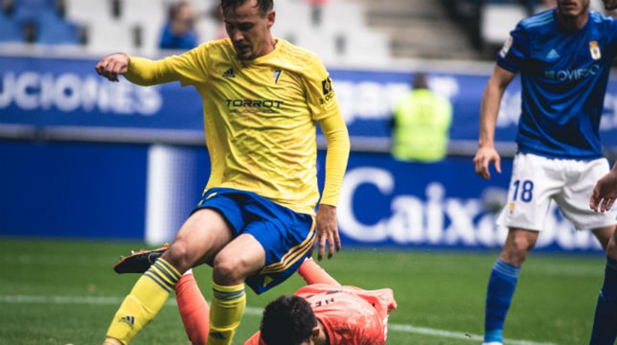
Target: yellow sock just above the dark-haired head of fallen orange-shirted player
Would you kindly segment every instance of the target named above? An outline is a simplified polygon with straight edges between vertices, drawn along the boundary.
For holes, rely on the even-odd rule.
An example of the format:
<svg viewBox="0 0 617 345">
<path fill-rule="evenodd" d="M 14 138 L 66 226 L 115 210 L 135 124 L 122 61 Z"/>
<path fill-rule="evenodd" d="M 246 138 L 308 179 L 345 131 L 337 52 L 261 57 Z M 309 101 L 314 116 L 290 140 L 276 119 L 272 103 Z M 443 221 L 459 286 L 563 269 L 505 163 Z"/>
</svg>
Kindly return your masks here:
<svg viewBox="0 0 617 345">
<path fill-rule="evenodd" d="M 207 345 L 229 345 L 246 307 L 244 284 L 213 284 L 212 290 L 214 295 L 210 305 L 210 334 Z"/>
</svg>

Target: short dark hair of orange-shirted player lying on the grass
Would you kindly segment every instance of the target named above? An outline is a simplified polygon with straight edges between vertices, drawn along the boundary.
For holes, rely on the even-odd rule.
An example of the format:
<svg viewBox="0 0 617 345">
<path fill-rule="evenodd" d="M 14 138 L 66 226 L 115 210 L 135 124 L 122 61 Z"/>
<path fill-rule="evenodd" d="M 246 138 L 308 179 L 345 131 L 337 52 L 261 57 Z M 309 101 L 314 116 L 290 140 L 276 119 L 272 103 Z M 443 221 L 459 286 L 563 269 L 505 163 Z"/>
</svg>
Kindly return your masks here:
<svg viewBox="0 0 617 345">
<path fill-rule="evenodd" d="M 263 310 L 261 337 L 268 345 L 299 345 L 310 341 L 317 318 L 304 298 L 284 295 Z"/>
</svg>

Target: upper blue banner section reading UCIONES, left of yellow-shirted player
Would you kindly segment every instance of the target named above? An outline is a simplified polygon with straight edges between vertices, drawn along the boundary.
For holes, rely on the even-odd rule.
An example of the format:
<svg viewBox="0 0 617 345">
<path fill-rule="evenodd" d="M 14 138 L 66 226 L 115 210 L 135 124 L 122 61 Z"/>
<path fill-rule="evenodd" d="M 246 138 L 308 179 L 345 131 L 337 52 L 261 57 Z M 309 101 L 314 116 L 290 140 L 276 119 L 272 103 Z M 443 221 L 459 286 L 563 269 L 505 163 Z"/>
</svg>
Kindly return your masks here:
<svg viewBox="0 0 617 345">
<path fill-rule="evenodd" d="M 202 101 L 179 83 L 110 83 L 94 60 L 0 57 L 0 123 L 202 130 Z"/>
</svg>

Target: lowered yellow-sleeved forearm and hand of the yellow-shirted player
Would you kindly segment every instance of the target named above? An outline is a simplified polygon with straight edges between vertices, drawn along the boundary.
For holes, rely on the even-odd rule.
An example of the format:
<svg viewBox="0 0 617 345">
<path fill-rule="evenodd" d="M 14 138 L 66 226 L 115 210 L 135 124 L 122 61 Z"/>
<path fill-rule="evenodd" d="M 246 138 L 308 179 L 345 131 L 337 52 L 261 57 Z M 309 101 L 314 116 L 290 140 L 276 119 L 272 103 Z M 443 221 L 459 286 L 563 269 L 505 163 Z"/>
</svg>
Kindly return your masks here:
<svg viewBox="0 0 617 345">
<path fill-rule="evenodd" d="M 328 242 L 328 259 L 334 256 L 335 246 L 336 251 L 341 250 L 339 227 L 336 222 L 336 204 L 347 168 L 347 159 L 349 159 L 349 133 L 347 133 L 347 127 L 340 112 L 320 120 L 319 124 L 328 142 L 323 196 L 321 196 L 315 219 L 317 259 L 321 260 L 326 249 L 326 241 Z"/>
</svg>

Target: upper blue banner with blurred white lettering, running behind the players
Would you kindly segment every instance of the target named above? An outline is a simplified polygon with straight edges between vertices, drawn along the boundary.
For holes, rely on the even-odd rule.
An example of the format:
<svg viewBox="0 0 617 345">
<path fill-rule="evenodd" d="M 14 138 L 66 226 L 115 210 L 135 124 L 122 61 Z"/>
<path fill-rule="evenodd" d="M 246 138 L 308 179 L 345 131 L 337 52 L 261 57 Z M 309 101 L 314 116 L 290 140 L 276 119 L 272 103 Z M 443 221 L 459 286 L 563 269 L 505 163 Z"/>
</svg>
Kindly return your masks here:
<svg viewBox="0 0 617 345">
<path fill-rule="evenodd" d="M 179 83 L 143 88 L 110 83 L 94 73 L 96 60 L 0 57 L 0 124 L 202 131 L 202 102 Z M 477 140 L 484 73 L 429 73 L 429 86 L 453 104 L 452 139 Z M 412 72 L 330 69 L 353 137 L 387 138 L 392 108 L 409 89 Z M 508 87 L 496 139 L 513 141 L 520 114 L 520 81 Z M 610 80 L 601 123 L 603 143 L 617 146 L 617 81 Z"/>
</svg>

